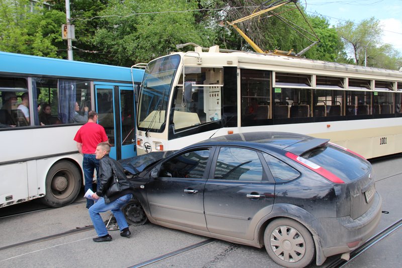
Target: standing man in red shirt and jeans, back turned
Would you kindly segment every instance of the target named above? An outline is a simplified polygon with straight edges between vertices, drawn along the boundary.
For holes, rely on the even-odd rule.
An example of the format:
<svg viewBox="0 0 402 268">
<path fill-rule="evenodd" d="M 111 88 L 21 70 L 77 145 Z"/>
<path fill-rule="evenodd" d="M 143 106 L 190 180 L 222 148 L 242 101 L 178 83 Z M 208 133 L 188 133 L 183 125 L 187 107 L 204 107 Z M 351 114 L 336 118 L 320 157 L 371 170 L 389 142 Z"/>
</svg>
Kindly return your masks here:
<svg viewBox="0 0 402 268">
<path fill-rule="evenodd" d="M 99 160 L 95 158 L 95 150 L 100 142 L 108 141 L 104 127 L 96 122 L 97 113 L 90 111 L 88 113 L 88 122 L 79 128 L 74 137 L 74 140 L 77 142 L 78 151 L 84 157 L 82 168 L 84 169 L 85 177 L 85 193 L 88 189 L 92 188 L 94 169 L 96 169 L 96 181 L 97 185 L 99 185 Z M 87 199 L 86 208 L 89 209 L 92 205 L 93 200 Z"/>
</svg>

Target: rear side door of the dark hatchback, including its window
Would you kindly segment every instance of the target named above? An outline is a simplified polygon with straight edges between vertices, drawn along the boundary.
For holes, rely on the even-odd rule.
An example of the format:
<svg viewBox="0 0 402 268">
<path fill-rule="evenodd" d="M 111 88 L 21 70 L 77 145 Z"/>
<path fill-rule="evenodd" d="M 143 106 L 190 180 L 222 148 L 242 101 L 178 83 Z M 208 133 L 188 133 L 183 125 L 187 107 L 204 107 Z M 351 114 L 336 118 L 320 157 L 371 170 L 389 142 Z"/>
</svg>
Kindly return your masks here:
<svg viewBox="0 0 402 268">
<path fill-rule="evenodd" d="M 275 184 L 268 181 L 260 152 L 220 147 L 204 192 L 207 228 L 212 233 L 254 239 L 262 217 L 272 211 Z"/>
</svg>

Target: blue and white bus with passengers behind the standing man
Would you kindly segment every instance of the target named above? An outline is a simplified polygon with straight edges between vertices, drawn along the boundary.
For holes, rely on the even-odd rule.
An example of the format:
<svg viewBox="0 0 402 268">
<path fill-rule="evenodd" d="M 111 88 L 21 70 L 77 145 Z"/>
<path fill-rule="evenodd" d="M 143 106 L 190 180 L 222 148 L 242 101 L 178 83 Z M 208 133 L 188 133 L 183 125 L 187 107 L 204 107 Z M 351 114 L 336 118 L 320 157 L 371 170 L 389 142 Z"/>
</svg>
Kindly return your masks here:
<svg viewBox="0 0 402 268">
<path fill-rule="evenodd" d="M 60 207 L 84 180 L 75 133 L 98 113 L 115 159 L 136 155 L 144 70 L 0 52 L 0 208 L 41 198 Z"/>
</svg>

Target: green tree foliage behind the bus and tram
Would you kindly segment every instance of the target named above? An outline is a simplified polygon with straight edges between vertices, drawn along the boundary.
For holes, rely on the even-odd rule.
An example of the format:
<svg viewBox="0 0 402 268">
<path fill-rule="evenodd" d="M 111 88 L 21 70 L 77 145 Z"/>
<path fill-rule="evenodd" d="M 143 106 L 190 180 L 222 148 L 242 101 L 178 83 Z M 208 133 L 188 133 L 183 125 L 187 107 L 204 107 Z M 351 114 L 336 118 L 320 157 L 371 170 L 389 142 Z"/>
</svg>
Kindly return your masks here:
<svg viewBox="0 0 402 268">
<path fill-rule="evenodd" d="M 30 55 L 67 58 L 67 42 L 61 39 L 66 23 L 65 1 L 48 0 L 51 9 L 38 2 L 33 12 L 29 0 L 0 2 L 0 50 Z M 278 2 L 269 2 L 278 3 Z M 251 46 L 227 21 L 235 21 L 266 8 L 265 0 L 74 0 L 70 1 L 75 25 L 74 60 L 131 66 L 176 51 L 176 45 L 252 51 Z M 304 16 L 293 4 L 237 24 L 263 50 L 293 49 L 300 52 L 316 37 L 320 43 L 304 56 L 311 59 L 364 64 L 390 69 L 401 67 L 401 55 L 381 45 L 381 28 L 374 18 L 359 24 L 345 22 L 331 27 L 320 16 Z M 291 27 L 289 26 L 291 25 Z M 297 25 L 297 26 L 295 26 Z M 295 29 L 297 29 L 297 31 Z M 303 36 L 302 34 L 303 33 Z M 308 39 L 308 38 L 310 39 Z M 185 47 L 189 50 L 192 47 Z"/>
</svg>

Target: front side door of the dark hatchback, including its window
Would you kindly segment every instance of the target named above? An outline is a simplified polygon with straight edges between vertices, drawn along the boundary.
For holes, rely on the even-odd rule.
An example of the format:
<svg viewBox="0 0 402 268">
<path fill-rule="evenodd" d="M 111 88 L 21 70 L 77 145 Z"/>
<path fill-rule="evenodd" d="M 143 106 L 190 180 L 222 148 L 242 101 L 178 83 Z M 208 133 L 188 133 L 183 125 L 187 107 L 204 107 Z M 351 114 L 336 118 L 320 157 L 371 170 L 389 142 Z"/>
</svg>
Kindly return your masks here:
<svg viewBox="0 0 402 268">
<path fill-rule="evenodd" d="M 146 186 L 152 218 L 207 231 L 203 200 L 210 154 L 211 148 L 189 150 L 158 165 L 158 177 Z"/>
</svg>

